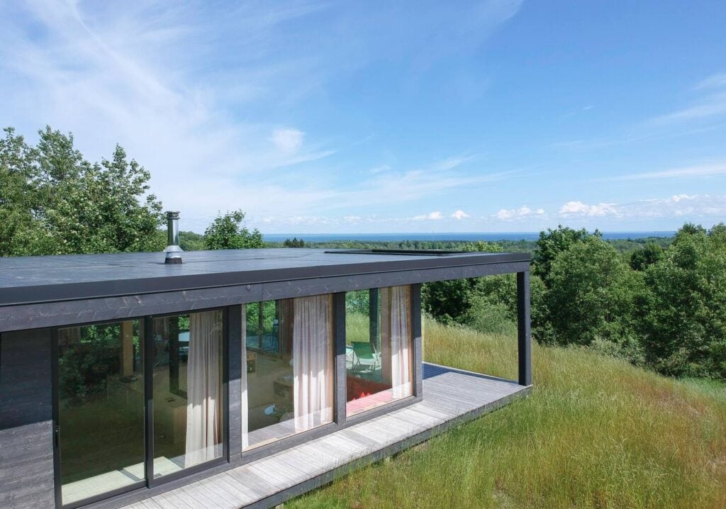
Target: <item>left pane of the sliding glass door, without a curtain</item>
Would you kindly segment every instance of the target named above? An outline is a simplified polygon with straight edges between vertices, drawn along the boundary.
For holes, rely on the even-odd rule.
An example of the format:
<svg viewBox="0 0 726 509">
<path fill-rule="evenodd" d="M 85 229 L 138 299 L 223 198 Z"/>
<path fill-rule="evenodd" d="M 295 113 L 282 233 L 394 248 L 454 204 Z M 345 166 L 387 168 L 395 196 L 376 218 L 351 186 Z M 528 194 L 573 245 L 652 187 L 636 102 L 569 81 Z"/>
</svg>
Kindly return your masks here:
<svg viewBox="0 0 726 509">
<path fill-rule="evenodd" d="M 58 330 L 64 505 L 144 482 L 142 322 Z"/>
</svg>

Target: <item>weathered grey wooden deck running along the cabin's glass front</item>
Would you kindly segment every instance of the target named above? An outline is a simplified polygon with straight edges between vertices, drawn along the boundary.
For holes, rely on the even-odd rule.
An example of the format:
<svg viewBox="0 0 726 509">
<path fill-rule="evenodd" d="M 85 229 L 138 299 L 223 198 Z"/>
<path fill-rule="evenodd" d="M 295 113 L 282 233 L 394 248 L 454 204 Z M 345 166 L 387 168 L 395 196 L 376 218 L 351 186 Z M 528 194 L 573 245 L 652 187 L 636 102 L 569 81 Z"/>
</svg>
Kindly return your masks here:
<svg viewBox="0 0 726 509">
<path fill-rule="evenodd" d="M 423 402 L 126 506 L 269 508 L 528 394 L 529 387 L 424 364 Z"/>
</svg>

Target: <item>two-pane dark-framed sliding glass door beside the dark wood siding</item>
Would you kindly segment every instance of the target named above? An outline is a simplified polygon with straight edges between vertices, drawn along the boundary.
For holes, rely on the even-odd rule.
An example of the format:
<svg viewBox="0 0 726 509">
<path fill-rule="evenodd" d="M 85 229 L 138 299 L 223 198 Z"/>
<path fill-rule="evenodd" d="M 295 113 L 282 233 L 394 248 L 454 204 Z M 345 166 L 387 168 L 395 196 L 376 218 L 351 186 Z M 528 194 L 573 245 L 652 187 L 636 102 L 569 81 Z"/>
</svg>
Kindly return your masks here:
<svg viewBox="0 0 726 509">
<path fill-rule="evenodd" d="M 57 329 L 59 505 L 85 505 L 224 458 L 224 335 L 221 310 Z"/>
</svg>

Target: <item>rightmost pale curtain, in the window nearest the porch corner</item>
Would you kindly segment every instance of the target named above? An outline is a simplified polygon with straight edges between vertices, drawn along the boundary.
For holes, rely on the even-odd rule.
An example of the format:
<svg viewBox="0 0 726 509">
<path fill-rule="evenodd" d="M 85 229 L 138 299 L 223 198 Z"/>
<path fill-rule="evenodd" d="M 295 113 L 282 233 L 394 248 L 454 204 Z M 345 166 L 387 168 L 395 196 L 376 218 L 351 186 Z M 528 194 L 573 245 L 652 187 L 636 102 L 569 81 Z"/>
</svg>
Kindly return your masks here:
<svg viewBox="0 0 726 509">
<path fill-rule="evenodd" d="M 383 350 L 383 381 L 390 383 L 393 397 L 411 395 L 410 296 L 408 286 L 380 289 Z M 390 356 L 390 357 L 389 357 Z M 388 359 L 391 359 L 390 364 Z"/>
</svg>

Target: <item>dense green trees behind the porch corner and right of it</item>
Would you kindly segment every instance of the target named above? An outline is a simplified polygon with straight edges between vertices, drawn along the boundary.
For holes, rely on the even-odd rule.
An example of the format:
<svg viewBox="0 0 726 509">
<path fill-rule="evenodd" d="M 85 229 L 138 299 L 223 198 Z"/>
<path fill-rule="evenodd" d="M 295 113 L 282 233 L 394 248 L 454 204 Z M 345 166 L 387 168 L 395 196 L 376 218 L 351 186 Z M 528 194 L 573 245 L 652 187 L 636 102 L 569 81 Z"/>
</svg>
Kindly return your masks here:
<svg viewBox="0 0 726 509">
<path fill-rule="evenodd" d="M 537 248 L 537 341 L 587 346 L 668 375 L 726 378 L 726 225 L 685 224 L 672 240 L 619 245 L 560 226 L 542 232 Z M 512 333 L 515 299 L 513 275 L 423 285 L 428 314 L 485 333 Z"/>
</svg>

